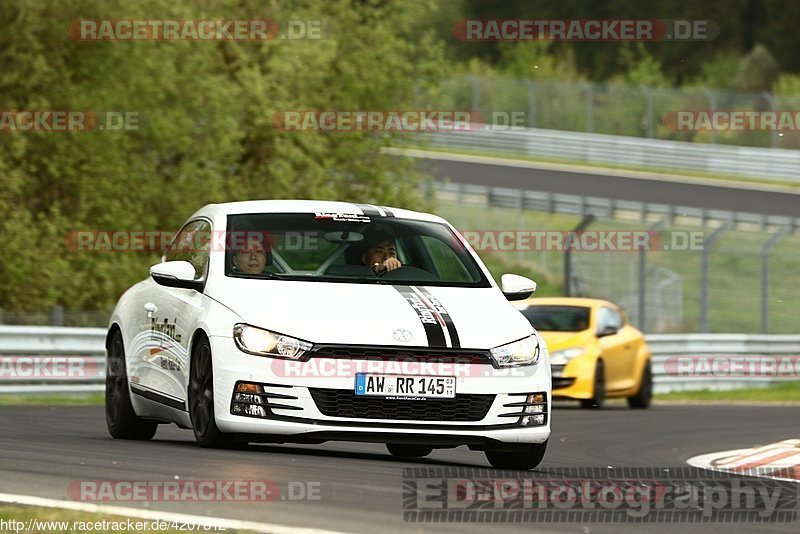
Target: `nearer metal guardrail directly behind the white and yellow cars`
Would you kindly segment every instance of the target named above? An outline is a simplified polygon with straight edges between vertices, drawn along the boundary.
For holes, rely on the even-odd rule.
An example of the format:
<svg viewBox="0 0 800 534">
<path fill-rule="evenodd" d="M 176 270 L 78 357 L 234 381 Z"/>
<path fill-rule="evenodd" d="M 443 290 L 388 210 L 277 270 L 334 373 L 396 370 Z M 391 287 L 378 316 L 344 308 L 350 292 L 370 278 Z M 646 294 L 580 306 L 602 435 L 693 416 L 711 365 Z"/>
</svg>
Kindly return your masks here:
<svg viewBox="0 0 800 534">
<path fill-rule="evenodd" d="M 102 328 L 0 326 L 0 393 L 102 391 L 105 335 Z M 776 358 L 789 362 L 784 370 L 794 373 L 790 379 L 800 379 L 800 335 L 663 334 L 647 336 L 647 342 L 657 393 L 786 380 L 762 376 L 776 369 Z M 731 372 L 736 369 L 752 376 Z M 715 376 L 705 376 L 709 372 Z"/>
</svg>

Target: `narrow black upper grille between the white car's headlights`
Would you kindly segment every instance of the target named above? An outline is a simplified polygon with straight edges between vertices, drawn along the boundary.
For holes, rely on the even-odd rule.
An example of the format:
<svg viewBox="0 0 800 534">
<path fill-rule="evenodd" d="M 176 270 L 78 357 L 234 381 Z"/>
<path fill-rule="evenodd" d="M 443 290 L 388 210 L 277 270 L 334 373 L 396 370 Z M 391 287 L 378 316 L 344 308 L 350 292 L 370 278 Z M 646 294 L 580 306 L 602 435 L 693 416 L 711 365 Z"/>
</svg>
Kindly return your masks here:
<svg viewBox="0 0 800 534">
<path fill-rule="evenodd" d="M 308 358 L 345 358 L 420 363 L 492 365 L 489 351 L 450 348 L 376 347 L 359 345 L 314 345 Z"/>
</svg>

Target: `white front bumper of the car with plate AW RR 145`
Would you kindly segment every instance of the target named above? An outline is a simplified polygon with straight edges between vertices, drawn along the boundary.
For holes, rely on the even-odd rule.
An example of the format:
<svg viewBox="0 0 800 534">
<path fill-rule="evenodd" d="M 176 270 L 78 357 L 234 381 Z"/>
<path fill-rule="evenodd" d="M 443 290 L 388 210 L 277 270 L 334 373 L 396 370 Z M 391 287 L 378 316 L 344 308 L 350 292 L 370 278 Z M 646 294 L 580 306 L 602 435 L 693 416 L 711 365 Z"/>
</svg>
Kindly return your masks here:
<svg viewBox="0 0 800 534">
<path fill-rule="evenodd" d="M 457 377 L 455 399 L 401 400 L 354 394 L 355 372 L 386 372 L 396 362 L 327 357 L 287 362 L 244 354 L 231 338 L 211 342 L 217 426 L 251 441 L 408 441 L 481 448 L 541 443 L 550 435 L 546 358 L 515 369 L 486 363 L 395 366 L 402 374 Z M 233 395 L 242 382 L 259 385 L 268 406 L 263 413 L 234 409 Z M 523 410 L 533 409 L 525 407 L 532 393 L 544 394 L 544 422 L 534 425 L 527 419 L 523 426 Z"/>
</svg>

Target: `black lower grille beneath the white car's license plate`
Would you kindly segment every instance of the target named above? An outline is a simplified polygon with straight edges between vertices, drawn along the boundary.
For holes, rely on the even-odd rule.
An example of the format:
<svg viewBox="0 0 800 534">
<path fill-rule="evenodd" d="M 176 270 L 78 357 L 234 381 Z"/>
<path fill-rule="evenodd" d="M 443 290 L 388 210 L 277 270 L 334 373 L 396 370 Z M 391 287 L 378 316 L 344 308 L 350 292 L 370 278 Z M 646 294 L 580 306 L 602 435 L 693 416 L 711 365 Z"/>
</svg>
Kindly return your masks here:
<svg viewBox="0 0 800 534">
<path fill-rule="evenodd" d="M 454 399 L 385 399 L 356 395 L 348 389 L 309 388 L 319 411 L 329 417 L 397 421 L 480 421 L 494 395 L 456 395 Z"/>
</svg>

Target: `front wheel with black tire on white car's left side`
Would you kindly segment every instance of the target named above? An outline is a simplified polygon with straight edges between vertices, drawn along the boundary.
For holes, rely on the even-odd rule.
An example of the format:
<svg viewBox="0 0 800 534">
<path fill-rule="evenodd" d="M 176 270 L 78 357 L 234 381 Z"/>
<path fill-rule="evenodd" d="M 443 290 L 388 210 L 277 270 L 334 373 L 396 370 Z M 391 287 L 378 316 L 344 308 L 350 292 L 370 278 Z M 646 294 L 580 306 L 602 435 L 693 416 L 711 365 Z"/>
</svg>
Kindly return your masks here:
<svg viewBox="0 0 800 534">
<path fill-rule="evenodd" d="M 200 338 L 192 350 L 189 369 L 189 418 L 194 429 L 194 439 L 201 447 L 229 449 L 241 448 L 233 436 L 217 427 L 214 416 L 214 372 L 211 361 L 211 343 Z"/>
</svg>

